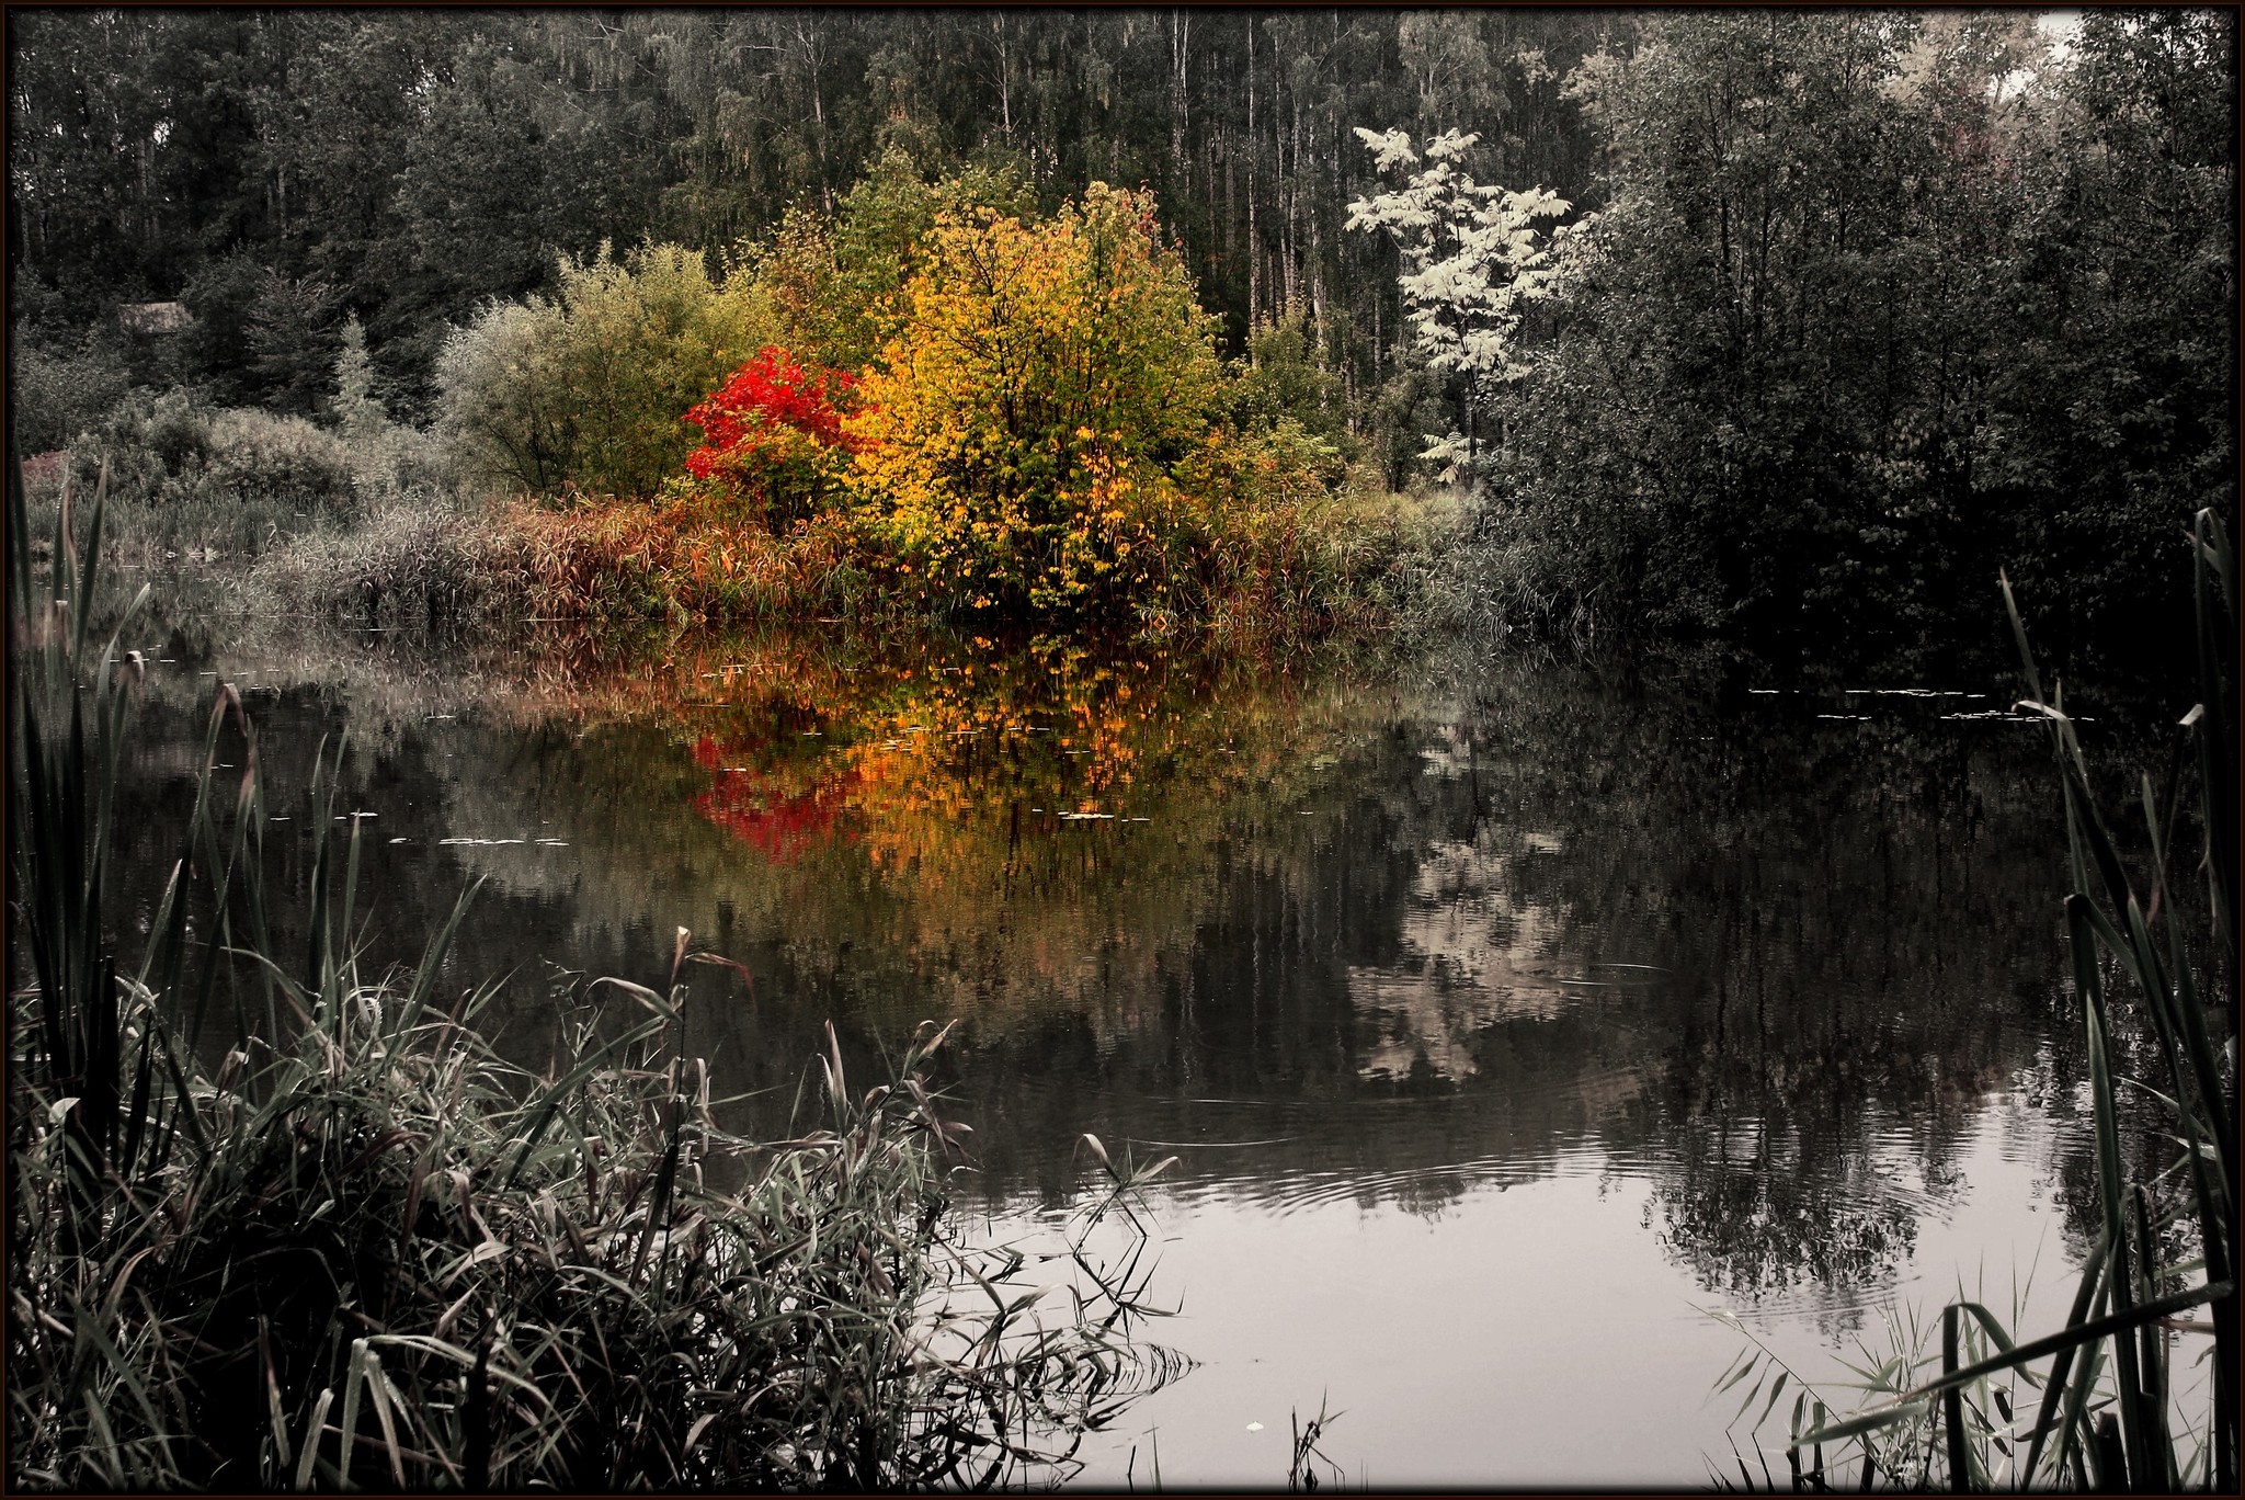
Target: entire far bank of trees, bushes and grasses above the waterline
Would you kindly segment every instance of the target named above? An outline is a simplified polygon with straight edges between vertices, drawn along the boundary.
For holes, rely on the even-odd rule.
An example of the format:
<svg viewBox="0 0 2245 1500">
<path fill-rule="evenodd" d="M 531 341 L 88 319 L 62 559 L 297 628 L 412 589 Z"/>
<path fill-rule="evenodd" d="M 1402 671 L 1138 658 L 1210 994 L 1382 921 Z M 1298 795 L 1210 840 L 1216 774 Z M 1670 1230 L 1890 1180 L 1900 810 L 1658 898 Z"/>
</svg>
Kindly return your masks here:
<svg viewBox="0 0 2245 1500">
<path fill-rule="evenodd" d="M 121 16 L 74 115 L 27 18 L 25 182 L 168 121 L 130 234 L 49 186 L 11 245 L 34 510 L 108 460 L 119 564 L 375 622 L 1253 656 L 1933 658 L 2007 568 L 2072 665 L 2182 629 L 2160 539 L 2234 505 L 2220 16 L 799 20 Z"/>
</svg>

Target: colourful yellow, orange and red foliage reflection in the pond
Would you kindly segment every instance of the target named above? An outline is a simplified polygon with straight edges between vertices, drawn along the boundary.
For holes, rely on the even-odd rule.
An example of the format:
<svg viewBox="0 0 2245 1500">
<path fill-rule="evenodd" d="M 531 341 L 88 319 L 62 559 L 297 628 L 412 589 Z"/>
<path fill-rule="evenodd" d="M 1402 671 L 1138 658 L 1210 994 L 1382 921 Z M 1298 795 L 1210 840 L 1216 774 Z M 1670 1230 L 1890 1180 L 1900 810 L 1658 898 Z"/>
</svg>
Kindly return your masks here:
<svg viewBox="0 0 2245 1500">
<path fill-rule="evenodd" d="M 1190 936 L 1215 889 L 1217 838 L 1291 865 L 1282 847 L 1311 826 L 1277 813 L 1307 797 L 1354 719 L 1338 689 L 1154 647 L 918 644 L 766 638 L 671 642 L 624 662 L 555 656 L 516 710 L 660 732 L 685 754 L 667 768 L 626 759 L 649 790 L 687 804 L 656 822 L 678 849 L 707 851 L 694 856 L 707 862 L 696 889 L 768 912 L 819 970 L 844 941 L 880 948 L 961 1010 L 999 993 L 1143 993 L 1125 979 Z M 644 808 L 649 795 L 617 786 L 604 799 Z M 676 817 L 721 829 L 732 853 Z M 651 856 L 588 865 L 629 885 Z"/>
</svg>

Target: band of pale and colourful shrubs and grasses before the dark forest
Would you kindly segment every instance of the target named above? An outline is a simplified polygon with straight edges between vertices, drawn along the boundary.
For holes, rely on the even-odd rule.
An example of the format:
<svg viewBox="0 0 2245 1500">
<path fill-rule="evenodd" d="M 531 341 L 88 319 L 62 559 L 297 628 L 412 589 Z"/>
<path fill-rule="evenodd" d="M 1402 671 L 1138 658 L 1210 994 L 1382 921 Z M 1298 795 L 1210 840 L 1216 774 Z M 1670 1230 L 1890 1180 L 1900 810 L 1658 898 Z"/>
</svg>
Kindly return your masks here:
<svg viewBox="0 0 2245 1500">
<path fill-rule="evenodd" d="M 1219 359 L 1149 195 L 1024 198 L 891 153 L 723 274 L 676 245 L 563 258 L 552 299 L 453 330 L 427 431 L 368 393 L 350 328 L 332 429 L 132 393 L 29 465 L 31 510 L 110 465 L 123 568 L 193 593 L 247 561 L 240 609 L 368 624 L 1396 633 L 1457 499 L 1351 458 L 1300 317 Z"/>
</svg>

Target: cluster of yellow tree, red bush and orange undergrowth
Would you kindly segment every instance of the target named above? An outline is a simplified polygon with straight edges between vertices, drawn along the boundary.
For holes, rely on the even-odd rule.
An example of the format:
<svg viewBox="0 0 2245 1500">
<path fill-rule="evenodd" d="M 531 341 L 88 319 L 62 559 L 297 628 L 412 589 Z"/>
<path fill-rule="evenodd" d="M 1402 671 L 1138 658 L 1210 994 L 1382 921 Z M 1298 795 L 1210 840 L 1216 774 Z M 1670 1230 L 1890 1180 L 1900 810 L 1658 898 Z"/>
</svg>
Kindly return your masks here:
<svg viewBox="0 0 2245 1500">
<path fill-rule="evenodd" d="M 880 364 L 860 384 L 766 346 L 687 411 L 705 433 L 691 478 L 581 519 L 516 514 L 532 609 L 799 615 L 855 609 L 880 582 L 938 613 L 1136 615 L 1259 644 L 1390 618 L 1399 591 L 1367 588 L 1401 532 L 1376 539 L 1360 496 L 1331 494 L 1340 449 L 1295 411 L 1345 427 L 1302 319 L 1259 335 L 1228 384 L 1149 200 L 1098 189 L 1024 220 L 986 202 L 1008 182 L 927 184 L 891 153 L 833 225 L 792 218 L 750 258 L 757 285 L 795 326 L 819 299 L 867 296 L 891 330 Z M 911 276 L 853 292 L 837 245 Z"/>
</svg>

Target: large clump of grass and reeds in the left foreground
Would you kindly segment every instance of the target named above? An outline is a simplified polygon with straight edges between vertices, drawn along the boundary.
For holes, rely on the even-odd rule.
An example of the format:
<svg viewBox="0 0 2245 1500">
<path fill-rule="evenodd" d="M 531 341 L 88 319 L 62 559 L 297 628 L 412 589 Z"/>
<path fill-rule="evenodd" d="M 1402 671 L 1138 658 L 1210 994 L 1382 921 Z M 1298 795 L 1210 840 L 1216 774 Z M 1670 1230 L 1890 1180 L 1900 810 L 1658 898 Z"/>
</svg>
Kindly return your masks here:
<svg viewBox="0 0 2245 1500">
<path fill-rule="evenodd" d="M 195 808 L 137 968 L 106 936 L 139 662 L 92 649 L 97 492 L 31 593 L 11 487 L 11 1480 L 40 1489 L 894 1489 L 1066 1464 L 1147 1379 L 1143 1275 L 1089 1226 L 1062 1287 L 968 1246 L 923 1026 L 858 1094 L 754 1143 L 667 995 L 581 1015 L 543 1073 L 453 993 L 458 914 L 411 972 L 364 975 L 359 824 L 312 786 L 308 943 L 267 941 L 267 826 L 240 696 L 213 705 Z M 141 600 L 126 611 L 130 622 Z M 81 597 L 83 595 L 83 597 Z M 83 685 L 83 687 L 81 687 Z M 231 795 L 220 737 L 247 737 Z M 467 896 L 462 896 L 462 907 Z M 213 1010 L 218 1017 L 213 1019 Z M 231 1026 L 224 1024 L 231 1013 Z M 1075 1275 L 1080 1273 L 1080 1275 Z"/>
</svg>

